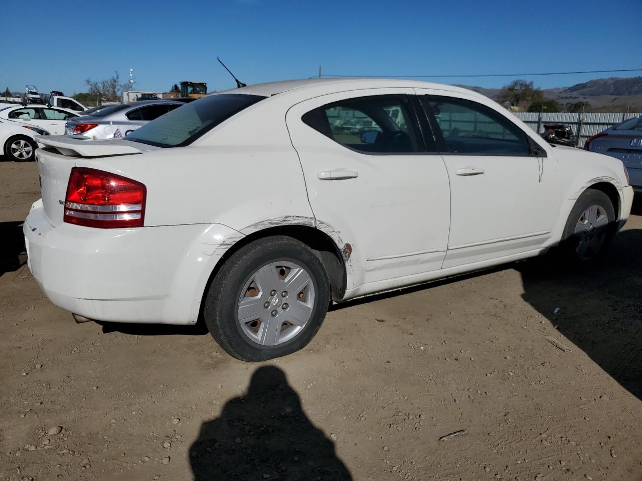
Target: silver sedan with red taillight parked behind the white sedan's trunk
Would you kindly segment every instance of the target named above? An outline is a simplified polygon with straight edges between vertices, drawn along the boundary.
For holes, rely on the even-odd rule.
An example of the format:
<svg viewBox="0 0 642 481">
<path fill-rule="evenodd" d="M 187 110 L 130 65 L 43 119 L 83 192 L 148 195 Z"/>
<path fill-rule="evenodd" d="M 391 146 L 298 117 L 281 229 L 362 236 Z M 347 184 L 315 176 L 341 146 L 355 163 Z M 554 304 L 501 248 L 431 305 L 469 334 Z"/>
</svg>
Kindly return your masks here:
<svg viewBox="0 0 642 481">
<path fill-rule="evenodd" d="M 183 105 L 185 104 L 182 102 L 172 100 L 144 100 L 111 105 L 67 122 L 65 134 L 84 140 L 120 139 Z"/>
</svg>

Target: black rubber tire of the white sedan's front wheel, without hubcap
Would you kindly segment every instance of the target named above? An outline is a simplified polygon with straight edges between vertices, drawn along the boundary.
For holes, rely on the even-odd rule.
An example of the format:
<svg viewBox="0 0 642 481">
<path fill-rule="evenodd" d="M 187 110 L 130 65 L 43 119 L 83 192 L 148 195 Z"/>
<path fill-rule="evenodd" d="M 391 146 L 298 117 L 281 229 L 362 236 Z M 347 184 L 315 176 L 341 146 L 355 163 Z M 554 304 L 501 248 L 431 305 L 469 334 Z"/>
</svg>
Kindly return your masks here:
<svg viewBox="0 0 642 481">
<path fill-rule="evenodd" d="M 597 206 L 600 215 L 606 215 L 607 223 L 598 228 L 588 229 L 586 233 L 576 234 L 577 224 L 591 206 Z M 586 189 L 575 202 L 566 221 L 560 253 L 564 260 L 575 267 L 594 267 L 603 260 L 615 233 L 616 217 L 611 199 L 601 190 Z"/>
</svg>

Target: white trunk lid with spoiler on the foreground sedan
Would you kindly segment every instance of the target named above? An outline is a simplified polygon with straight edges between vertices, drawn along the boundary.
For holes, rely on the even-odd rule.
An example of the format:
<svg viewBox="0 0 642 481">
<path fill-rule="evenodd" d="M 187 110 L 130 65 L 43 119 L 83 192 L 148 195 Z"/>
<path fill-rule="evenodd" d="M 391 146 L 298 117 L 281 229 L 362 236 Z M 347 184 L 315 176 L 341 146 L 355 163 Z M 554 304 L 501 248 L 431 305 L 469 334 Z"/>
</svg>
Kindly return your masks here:
<svg viewBox="0 0 642 481">
<path fill-rule="evenodd" d="M 35 139 L 45 146 L 37 150 L 36 160 L 40 173 L 42 205 L 49 222 L 54 226 L 63 221 L 69 174 L 71 169 L 76 167 L 78 158 L 139 155 L 144 150 L 156 149 L 142 144 L 137 146 L 134 142 L 119 139 L 94 142 L 64 136 L 36 136 Z"/>
</svg>

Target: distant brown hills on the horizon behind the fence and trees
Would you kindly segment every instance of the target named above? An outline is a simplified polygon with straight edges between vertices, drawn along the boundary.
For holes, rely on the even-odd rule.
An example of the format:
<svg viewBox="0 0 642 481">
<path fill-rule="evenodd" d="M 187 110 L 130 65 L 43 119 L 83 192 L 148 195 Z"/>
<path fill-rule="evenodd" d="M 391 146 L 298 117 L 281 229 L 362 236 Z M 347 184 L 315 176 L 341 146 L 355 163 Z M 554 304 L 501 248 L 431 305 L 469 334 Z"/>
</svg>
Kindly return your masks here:
<svg viewBox="0 0 642 481">
<path fill-rule="evenodd" d="M 500 89 L 484 89 L 458 85 L 474 90 L 490 99 L 496 99 Z M 642 112 L 642 77 L 598 78 L 571 87 L 544 89 L 544 97 L 555 99 L 560 104 L 587 102 L 591 110 L 599 112 Z"/>
</svg>

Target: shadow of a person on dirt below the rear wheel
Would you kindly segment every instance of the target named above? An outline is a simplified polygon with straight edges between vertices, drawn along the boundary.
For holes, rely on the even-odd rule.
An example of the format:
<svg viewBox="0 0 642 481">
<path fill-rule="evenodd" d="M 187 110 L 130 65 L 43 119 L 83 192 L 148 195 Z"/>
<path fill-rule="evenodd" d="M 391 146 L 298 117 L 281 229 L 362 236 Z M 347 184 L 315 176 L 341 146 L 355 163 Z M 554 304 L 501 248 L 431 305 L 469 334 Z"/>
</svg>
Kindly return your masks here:
<svg viewBox="0 0 642 481">
<path fill-rule="evenodd" d="M 195 481 L 352 480 L 275 366 L 259 367 L 245 396 L 202 424 L 188 457 Z"/>
</svg>

